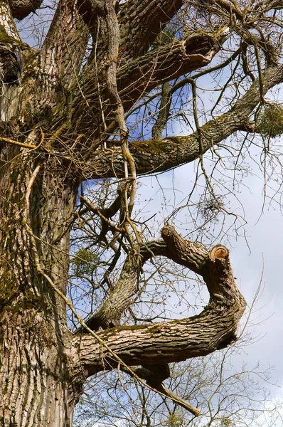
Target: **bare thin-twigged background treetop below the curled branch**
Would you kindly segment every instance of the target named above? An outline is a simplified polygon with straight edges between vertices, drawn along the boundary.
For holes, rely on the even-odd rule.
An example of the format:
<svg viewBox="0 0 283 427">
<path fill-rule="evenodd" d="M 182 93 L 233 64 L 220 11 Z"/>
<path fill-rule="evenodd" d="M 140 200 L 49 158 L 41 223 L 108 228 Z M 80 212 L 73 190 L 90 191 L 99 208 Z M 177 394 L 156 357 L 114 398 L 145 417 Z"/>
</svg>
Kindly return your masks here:
<svg viewBox="0 0 283 427">
<path fill-rule="evenodd" d="M 262 379 L 270 372 L 253 367 L 230 366 L 228 354 L 222 350 L 200 359 L 191 359 L 171 367 L 169 388 L 190 401 L 198 401 L 200 417 L 139 386 L 137 381 L 122 375 L 100 375 L 95 384 L 87 385 L 75 411 L 75 427 L 244 427 L 280 425 L 279 402 L 269 398 L 262 388 Z M 220 364 L 223 366 L 220 367 Z M 226 370 L 227 369 L 227 370 Z M 109 377 L 108 377 L 109 376 Z M 125 392 L 127 390 L 127 393 Z"/>
</svg>

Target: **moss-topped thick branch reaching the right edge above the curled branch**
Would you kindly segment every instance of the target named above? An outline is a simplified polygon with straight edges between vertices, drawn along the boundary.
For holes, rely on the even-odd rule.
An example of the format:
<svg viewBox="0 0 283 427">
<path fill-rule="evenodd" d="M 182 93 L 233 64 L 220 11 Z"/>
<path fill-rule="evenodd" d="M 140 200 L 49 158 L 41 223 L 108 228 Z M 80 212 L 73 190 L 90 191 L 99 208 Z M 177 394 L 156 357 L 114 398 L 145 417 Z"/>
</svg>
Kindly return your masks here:
<svg viewBox="0 0 283 427">
<path fill-rule="evenodd" d="M 238 130 L 249 132 L 251 130 L 249 117 L 257 104 L 261 102 L 262 95 L 265 95 L 269 89 L 282 82 L 283 65 L 269 68 L 262 75 L 263 93 L 261 92 L 260 80 L 257 79 L 228 112 L 205 123 L 201 127 L 203 154 Z M 103 152 L 103 154 L 96 153 L 95 163 L 100 162 L 100 169 L 97 170 L 98 176 L 102 174 L 114 176 L 110 169 L 112 159 L 114 159 L 112 165 L 115 173 L 121 175 L 119 171 L 122 168 L 122 164 L 119 157 L 114 157 L 113 155 L 113 150 L 115 149 L 117 153 L 119 152 L 117 147 L 112 147 L 110 156 L 107 152 Z M 149 141 L 133 142 L 130 150 L 134 156 L 138 174 L 166 171 L 172 167 L 198 159 L 200 155 L 198 132 L 193 132 L 186 137 L 167 137 L 161 139 L 161 141 L 151 139 Z"/>
</svg>

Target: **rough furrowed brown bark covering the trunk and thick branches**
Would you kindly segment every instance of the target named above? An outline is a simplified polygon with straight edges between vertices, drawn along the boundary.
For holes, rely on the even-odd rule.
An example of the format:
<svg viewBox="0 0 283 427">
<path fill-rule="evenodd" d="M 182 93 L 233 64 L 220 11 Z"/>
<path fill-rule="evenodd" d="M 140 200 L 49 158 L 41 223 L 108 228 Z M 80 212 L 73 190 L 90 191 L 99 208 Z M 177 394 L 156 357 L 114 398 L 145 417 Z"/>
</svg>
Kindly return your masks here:
<svg viewBox="0 0 283 427">
<path fill-rule="evenodd" d="M 230 4 L 227 9 L 225 1 L 216 3 L 227 15 Z M 36 50 L 21 41 L 13 17 L 22 19 L 40 4 L 39 0 L 0 4 L 0 423 L 4 427 L 69 427 L 87 376 L 118 364 L 144 365 L 143 378 L 169 396 L 161 384 L 166 364 L 208 354 L 236 339 L 245 301 L 235 285 L 228 250 L 217 246 L 209 253 L 184 241 L 171 226 L 163 229 L 163 241 L 141 243 L 139 255 L 132 247 L 116 286 L 88 323 L 96 334 L 91 330 L 71 334 L 65 295 L 75 201 L 84 179 L 124 179 L 130 161 L 138 174 L 165 171 L 192 162 L 237 130 L 252 130 L 248 117 L 265 93 L 283 81 L 282 65 L 269 63 L 230 110 L 198 133 L 132 142 L 125 158 L 120 142 L 105 145 L 117 132 L 117 107 L 119 112 L 129 111 L 161 83 L 208 65 L 232 27 L 226 22 L 219 31 L 200 30 L 154 48 L 181 1 L 132 0 L 119 6 L 116 1 L 60 0 L 46 40 Z M 232 12 L 242 25 L 245 21 L 248 31 L 247 16 L 234 11 L 234 6 Z M 82 63 L 90 35 L 90 56 Z M 126 179 L 125 188 L 131 185 Z M 125 190 L 102 213 L 107 226 L 128 196 Z M 105 234 L 102 228 L 100 237 Z M 210 302 L 201 315 L 189 319 L 119 326 L 137 295 L 139 268 L 152 255 L 166 256 L 201 275 Z M 161 365 L 165 374 L 157 378 L 156 367 Z"/>
</svg>

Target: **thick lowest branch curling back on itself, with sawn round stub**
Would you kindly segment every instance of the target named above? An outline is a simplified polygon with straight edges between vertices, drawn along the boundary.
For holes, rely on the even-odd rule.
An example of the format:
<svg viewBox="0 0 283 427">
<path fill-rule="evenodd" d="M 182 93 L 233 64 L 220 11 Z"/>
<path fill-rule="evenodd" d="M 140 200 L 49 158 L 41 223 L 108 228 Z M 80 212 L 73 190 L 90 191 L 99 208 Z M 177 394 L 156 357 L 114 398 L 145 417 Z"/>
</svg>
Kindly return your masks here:
<svg viewBox="0 0 283 427">
<path fill-rule="evenodd" d="M 76 335 L 70 354 L 75 368 L 83 367 L 87 375 L 113 369 L 117 361 L 109 349 L 128 365 L 151 365 L 204 356 L 235 341 L 245 300 L 235 285 L 227 248 L 216 246 L 209 254 L 191 243 L 190 253 L 188 242 L 183 241 L 172 226 L 166 226 L 162 235 L 172 252 L 180 253 L 181 260 L 188 253 L 188 265 L 196 265 L 203 274 L 210 292 L 208 306 L 201 315 L 184 320 L 98 332 L 107 347 L 92 336 Z"/>
</svg>

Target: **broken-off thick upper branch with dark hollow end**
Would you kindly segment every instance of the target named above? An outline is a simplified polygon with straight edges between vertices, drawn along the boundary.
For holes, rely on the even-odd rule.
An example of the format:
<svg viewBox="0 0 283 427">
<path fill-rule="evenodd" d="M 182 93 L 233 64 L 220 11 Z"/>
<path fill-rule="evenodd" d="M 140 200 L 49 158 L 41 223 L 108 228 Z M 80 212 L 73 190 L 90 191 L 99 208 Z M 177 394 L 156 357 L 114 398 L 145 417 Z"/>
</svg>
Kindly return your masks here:
<svg viewBox="0 0 283 427">
<path fill-rule="evenodd" d="M 229 29 L 225 27 L 217 36 L 193 34 L 126 63 L 117 73 L 122 99 L 126 102 L 137 100 L 142 93 L 148 93 L 160 83 L 208 65 L 228 33 Z"/>
</svg>

